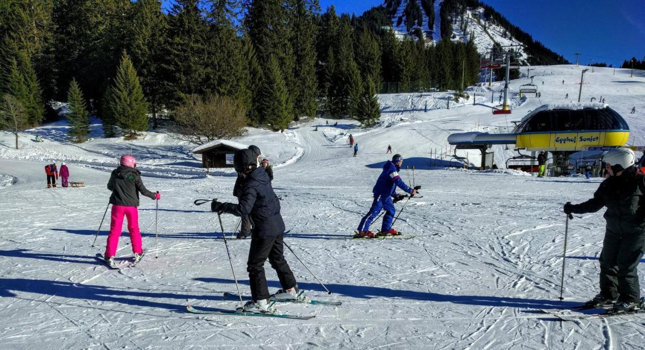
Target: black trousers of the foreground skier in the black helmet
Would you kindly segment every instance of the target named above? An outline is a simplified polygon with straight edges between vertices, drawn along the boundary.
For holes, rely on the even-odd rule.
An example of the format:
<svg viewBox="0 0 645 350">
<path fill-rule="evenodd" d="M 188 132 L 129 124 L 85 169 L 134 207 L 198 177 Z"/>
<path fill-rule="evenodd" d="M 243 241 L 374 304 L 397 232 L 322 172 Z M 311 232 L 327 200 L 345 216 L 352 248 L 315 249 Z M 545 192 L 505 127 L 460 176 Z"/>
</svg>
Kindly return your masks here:
<svg viewBox="0 0 645 350">
<path fill-rule="evenodd" d="M 282 289 L 295 287 L 295 277 L 284 260 L 283 234 L 270 237 L 258 237 L 255 233 L 251 236 L 251 248 L 248 252 L 246 271 L 251 285 L 253 300 L 269 298 L 269 289 L 264 276 L 264 262 L 269 259 L 271 267 L 278 274 Z"/>
</svg>

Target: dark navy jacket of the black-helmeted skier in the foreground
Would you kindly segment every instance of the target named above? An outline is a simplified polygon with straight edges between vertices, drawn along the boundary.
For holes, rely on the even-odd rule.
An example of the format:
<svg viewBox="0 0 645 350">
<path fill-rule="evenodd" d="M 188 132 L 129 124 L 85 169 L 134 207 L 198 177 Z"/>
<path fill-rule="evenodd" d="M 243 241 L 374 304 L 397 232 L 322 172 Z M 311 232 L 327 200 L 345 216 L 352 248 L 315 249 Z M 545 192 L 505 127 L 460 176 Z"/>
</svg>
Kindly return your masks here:
<svg viewBox="0 0 645 350">
<path fill-rule="evenodd" d="M 280 214 L 280 201 L 273 192 L 269 176 L 262 167 L 244 176 L 239 203 L 222 203 L 220 211 L 235 216 L 251 216 L 253 236 L 271 237 L 284 232 L 284 221 Z"/>
</svg>

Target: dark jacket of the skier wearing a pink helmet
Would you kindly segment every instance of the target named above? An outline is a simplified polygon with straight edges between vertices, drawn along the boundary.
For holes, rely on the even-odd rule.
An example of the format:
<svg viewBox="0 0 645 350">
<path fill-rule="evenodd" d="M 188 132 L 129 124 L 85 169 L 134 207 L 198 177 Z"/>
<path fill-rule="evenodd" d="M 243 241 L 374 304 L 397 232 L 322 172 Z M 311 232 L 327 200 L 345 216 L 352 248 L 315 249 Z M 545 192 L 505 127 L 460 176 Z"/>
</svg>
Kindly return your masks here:
<svg viewBox="0 0 645 350">
<path fill-rule="evenodd" d="M 137 169 L 119 165 L 112 170 L 108 190 L 112 191 L 110 204 L 123 205 L 124 207 L 139 207 L 139 192 L 153 200 L 157 194 L 150 192 L 141 181 L 141 172 Z"/>
</svg>

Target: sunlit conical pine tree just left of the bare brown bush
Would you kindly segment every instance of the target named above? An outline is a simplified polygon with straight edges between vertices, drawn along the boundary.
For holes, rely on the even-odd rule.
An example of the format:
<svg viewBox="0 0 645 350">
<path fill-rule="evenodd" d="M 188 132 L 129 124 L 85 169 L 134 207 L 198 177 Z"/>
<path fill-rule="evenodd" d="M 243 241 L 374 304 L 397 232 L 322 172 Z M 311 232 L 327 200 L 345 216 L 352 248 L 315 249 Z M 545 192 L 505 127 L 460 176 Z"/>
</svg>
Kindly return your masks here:
<svg viewBox="0 0 645 350">
<path fill-rule="evenodd" d="M 126 52 L 121 56 L 121 64 L 117 68 L 111 90 L 107 108 L 110 108 L 110 113 L 115 116 L 126 136 L 132 138 L 136 136 L 137 131 L 148 129 L 148 103 L 143 96 L 137 72 Z"/>
</svg>

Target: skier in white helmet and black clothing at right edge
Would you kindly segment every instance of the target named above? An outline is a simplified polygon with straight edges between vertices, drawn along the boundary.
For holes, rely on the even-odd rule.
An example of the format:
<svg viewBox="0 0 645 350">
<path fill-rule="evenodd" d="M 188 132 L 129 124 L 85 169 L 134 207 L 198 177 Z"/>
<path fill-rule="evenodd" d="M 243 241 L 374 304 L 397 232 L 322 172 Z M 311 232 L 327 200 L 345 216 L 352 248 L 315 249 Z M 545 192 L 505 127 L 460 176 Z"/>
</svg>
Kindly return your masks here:
<svg viewBox="0 0 645 350">
<path fill-rule="evenodd" d="M 607 221 L 602 252 L 600 252 L 600 294 L 591 305 L 613 305 L 615 312 L 623 313 L 643 307 L 640 298 L 637 266 L 645 244 L 645 176 L 638 174 L 634 152 L 619 147 L 608 151 L 602 158 L 610 177 L 590 200 L 573 205 L 566 203 L 566 214 L 597 212 L 607 207 Z"/>
</svg>

